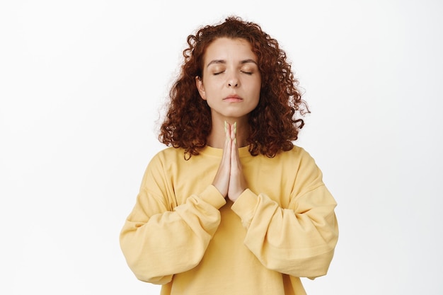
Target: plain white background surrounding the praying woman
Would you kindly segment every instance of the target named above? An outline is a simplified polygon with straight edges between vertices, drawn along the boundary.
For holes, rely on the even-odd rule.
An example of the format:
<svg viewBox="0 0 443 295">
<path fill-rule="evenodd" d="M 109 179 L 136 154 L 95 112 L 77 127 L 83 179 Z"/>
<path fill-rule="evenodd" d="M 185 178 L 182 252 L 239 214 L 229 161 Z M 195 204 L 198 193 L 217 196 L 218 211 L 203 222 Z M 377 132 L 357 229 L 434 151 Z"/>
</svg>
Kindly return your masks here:
<svg viewBox="0 0 443 295">
<path fill-rule="evenodd" d="M 118 235 L 186 37 L 237 14 L 286 50 L 338 201 L 308 293 L 442 294 L 442 2 L 291 3 L 1 1 L 0 293 L 159 294 Z"/>
</svg>

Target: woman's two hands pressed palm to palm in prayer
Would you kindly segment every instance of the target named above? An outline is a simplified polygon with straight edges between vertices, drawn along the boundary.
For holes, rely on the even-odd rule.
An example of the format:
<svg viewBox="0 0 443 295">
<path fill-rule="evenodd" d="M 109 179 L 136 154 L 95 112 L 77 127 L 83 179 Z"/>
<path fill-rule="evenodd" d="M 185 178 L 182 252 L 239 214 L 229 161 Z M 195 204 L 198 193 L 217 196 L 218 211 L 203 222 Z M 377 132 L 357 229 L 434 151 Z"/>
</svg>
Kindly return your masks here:
<svg viewBox="0 0 443 295">
<path fill-rule="evenodd" d="M 212 185 L 217 190 L 235 202 L 238 196 L 246 190 L 246 180 L 241 168 L 240 156 L 236 141 L 236 124 L 225 125 L 226 140 L 224 143 L 222 161 Z"/>
</svg>

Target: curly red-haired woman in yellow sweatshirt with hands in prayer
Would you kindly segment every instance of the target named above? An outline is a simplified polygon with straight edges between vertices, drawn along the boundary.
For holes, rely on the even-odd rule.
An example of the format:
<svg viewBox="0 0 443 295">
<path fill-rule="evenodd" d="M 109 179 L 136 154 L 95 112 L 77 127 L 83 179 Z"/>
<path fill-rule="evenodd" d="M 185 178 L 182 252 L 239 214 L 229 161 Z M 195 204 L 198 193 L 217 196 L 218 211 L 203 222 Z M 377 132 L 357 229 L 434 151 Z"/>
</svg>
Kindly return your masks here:
<svg viewBox="0 0 443 295">
<path fill-rule="evenodd" d="M 305 294 L 338 239 L 321 170 L 294 146 L 301 100 L 286 54 L 255 23 L 188 37 L 137 202 L 120 234 L 136 277 L 161 294 Z"/>
</svg>

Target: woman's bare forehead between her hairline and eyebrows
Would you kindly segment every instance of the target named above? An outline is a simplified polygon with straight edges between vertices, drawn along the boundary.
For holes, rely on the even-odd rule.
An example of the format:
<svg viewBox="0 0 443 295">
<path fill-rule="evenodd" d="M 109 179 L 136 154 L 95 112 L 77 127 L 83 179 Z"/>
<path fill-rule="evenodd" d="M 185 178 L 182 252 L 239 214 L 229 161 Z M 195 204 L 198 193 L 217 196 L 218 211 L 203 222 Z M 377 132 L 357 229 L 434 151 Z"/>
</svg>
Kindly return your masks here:
<svg viewBox="0 0 443 295">
<path fill-rule="evenodd" d="M 241 38 L 231 39 L 227 37 L 217 38 L 206 48 L 204 57 L 205 64 L 211 62 L 212 59 L 225 61 L 243 59 L 257 60 L 248 40 Z"/>
</svg>

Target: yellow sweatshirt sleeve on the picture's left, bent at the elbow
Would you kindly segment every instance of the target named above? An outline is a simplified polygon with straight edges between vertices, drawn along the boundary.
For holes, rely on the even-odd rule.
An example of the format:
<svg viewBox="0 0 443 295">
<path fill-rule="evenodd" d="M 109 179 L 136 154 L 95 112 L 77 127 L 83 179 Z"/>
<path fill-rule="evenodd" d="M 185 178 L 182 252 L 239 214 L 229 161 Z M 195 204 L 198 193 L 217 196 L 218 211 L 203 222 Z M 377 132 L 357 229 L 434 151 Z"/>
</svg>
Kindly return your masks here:
<svg viewBox="0 0 443 295">
<path fill-rule="evenodd" d="M 195 267 L 220 223 L 226 201 L 209 185 L 176 204 L 174 187 L 163 163 L 154 158 L 146 169 L 137 202 L 120 233 L 120 246 L 135 276 L 154 284 Z"/>
</svg>

